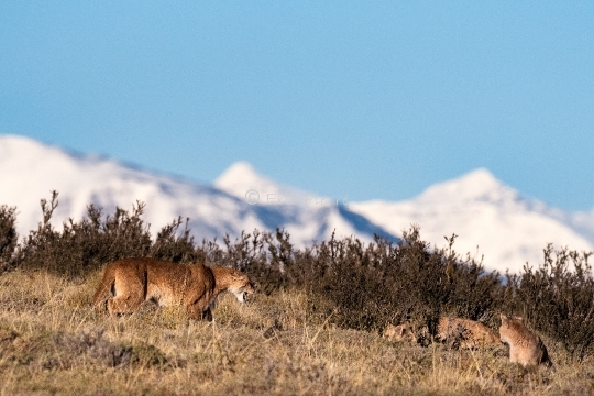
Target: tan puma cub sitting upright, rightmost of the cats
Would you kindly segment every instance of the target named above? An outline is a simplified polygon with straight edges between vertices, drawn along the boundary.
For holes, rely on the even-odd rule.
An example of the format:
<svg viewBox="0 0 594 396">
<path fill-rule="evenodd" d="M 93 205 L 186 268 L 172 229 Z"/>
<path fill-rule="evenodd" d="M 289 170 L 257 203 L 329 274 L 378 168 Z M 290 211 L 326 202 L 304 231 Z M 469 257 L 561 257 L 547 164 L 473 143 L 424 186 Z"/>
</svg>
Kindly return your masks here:
<svg viewBox="0 0 594 396">
<path fill-rule="evenodd" d="M 544 364 L 552 366 L 547 348 L 540 337 L 528 330 L 520 317 L 508 318 L 502 314 L 499 337 L 509 344 L 509 361 L 522 366 Z"/>
</svg>

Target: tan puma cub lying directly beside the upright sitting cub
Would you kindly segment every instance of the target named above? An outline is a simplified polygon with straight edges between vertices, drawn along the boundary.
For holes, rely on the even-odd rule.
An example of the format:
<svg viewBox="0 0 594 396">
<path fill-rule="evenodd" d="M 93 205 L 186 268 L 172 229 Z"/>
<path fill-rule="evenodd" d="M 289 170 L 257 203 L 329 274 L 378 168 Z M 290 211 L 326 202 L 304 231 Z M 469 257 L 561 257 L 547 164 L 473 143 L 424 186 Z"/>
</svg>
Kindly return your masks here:
<svg viewBox="0 0 594 396">
<path fill-rule="evenodd" d="M 486 345 L 498 345 L 502 342 L 485 324 L 462 318 L 439 318 L 438 340 L 460 342 L 460 348 L 474 349 Z"/>
</svg>

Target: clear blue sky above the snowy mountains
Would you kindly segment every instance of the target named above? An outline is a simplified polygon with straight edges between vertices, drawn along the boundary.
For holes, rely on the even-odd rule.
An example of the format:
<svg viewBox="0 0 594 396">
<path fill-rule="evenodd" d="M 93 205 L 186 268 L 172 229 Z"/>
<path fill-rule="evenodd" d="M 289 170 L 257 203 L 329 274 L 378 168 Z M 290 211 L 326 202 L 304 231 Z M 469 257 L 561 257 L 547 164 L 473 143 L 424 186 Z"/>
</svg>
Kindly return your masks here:
<svg viewBox="0 0 594 396">
<path fill-rule="evenodd" d="M 0 133 L 351 200 L 486 167 L 594 207 L 592 1 L 8 1 Z"/>
</svg>

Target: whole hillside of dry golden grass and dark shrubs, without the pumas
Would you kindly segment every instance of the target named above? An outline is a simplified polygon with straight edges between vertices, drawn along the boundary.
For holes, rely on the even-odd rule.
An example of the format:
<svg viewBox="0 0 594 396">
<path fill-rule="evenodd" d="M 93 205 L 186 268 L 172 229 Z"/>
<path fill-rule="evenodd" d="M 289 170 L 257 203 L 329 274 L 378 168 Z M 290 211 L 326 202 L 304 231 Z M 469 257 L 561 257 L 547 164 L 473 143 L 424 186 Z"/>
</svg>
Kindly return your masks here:
<svg viewBox="0 0 594 396">
<path fill-rule="evenodd" d="M 55 197 L 54 197 L 55 198 Z M 0 394 L 576 394 L 594 389 L 594 282 L 587 253 L 554 252 L 517 275 L 435 250 L 418 228 L 398 244 L 323 241 L 295 250 L 290 235 L 243 234 L 195 243 L 178 219 L 151 239 L 141 215 L 118 209 L 56 231 L 57 200 L 20 242 L 16 210 L 0 207 Z M 90 307 L 110 261 L 147 255 L 245 271 L 258 286 L 244 305 L 223 295 L 215 321 L 146 304 L 109 317 Z M 505 280 L 505 282 L 503 282 Z M 557 371 L 508 362 L 506 346 L 433 343 L 440 315 L 524 315 Z M 381 337 L 410 321 L 420 344 Z"/>
</svg>

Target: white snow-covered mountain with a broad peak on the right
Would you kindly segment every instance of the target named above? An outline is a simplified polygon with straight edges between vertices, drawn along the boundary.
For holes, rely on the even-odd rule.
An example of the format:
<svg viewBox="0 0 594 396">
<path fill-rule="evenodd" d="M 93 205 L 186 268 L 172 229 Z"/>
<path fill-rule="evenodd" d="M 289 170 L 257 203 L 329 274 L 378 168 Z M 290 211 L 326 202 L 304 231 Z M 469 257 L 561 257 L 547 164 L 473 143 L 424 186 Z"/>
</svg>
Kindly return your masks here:
<svg viewBox="0 0 594 396">
<path fill-rule="evenodd" d="M 541 263 L 547 243 L 594 251 L 594 239 L 578 228 L 579 221 L 584 230 L 592 227 L 594 213 L 579 218 L 525 199 L 487 169 L 433 185 L 410 200 L 372 200 L 349 208 L 395 234 L 418 224 L 421 239 L 436 246 L 447 245 L 444 237 L 455 233 L 459 253 L 484 255 L 485 267 L 499 272 Z"/>
</svg>

